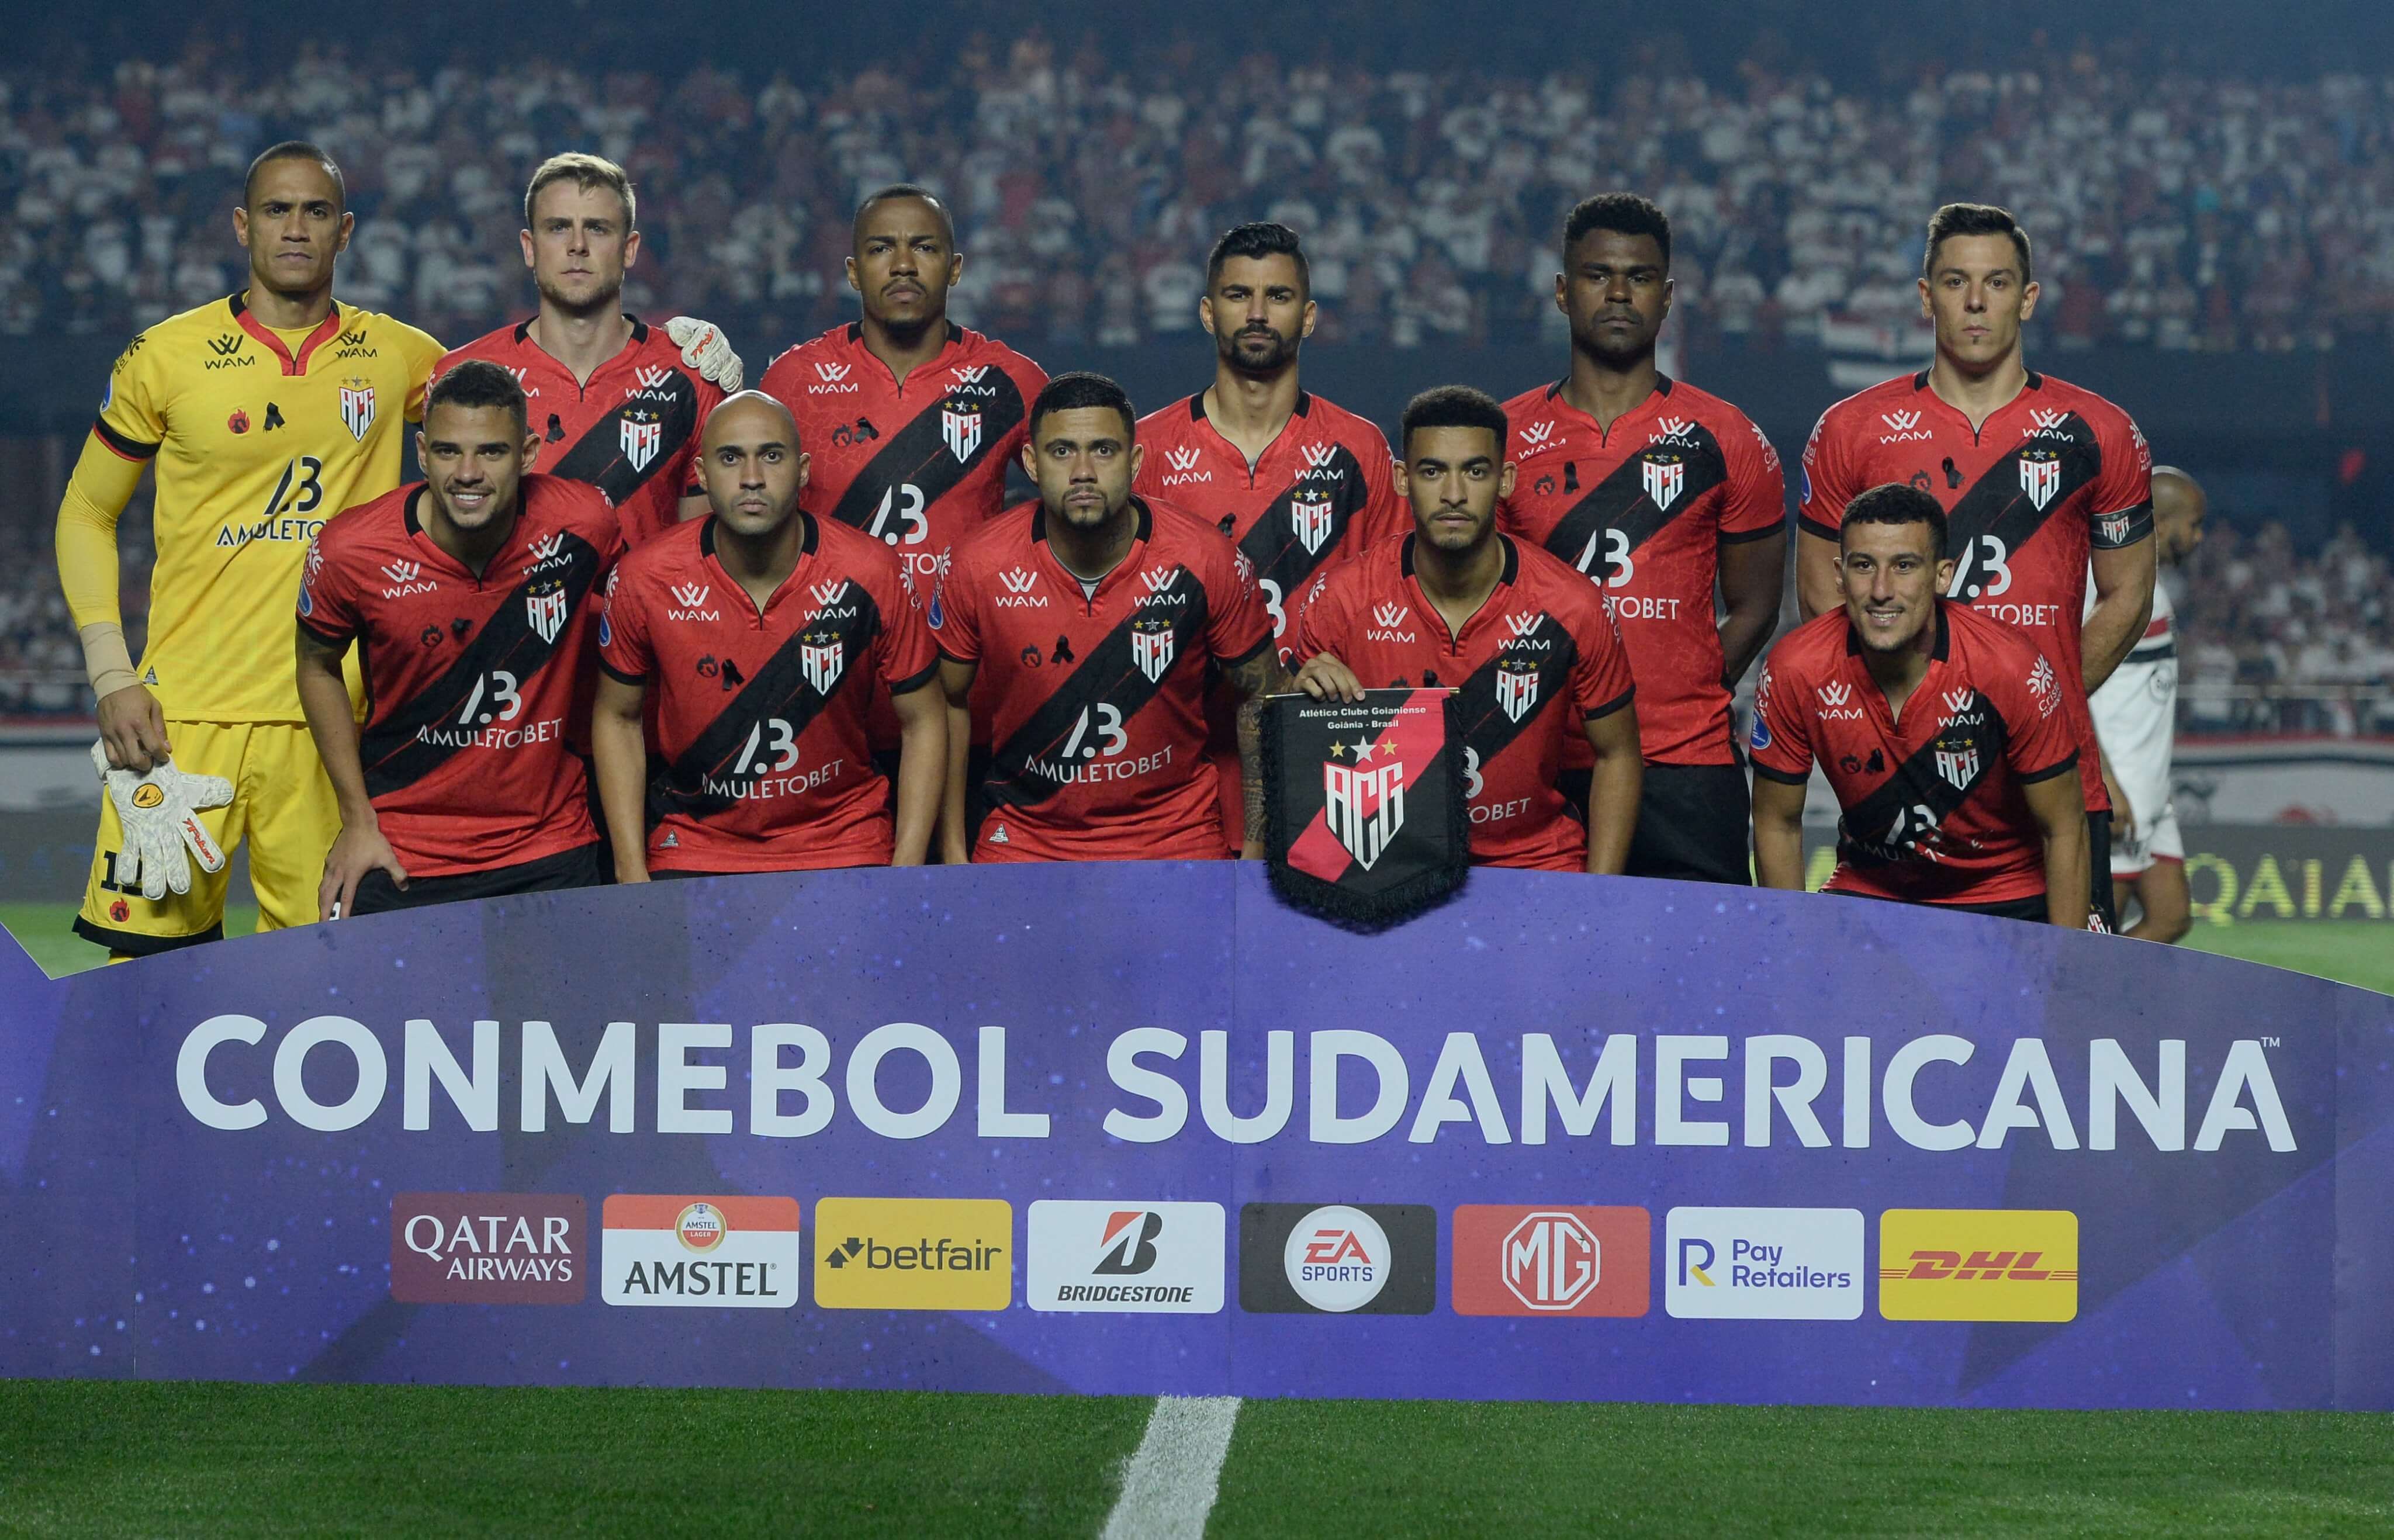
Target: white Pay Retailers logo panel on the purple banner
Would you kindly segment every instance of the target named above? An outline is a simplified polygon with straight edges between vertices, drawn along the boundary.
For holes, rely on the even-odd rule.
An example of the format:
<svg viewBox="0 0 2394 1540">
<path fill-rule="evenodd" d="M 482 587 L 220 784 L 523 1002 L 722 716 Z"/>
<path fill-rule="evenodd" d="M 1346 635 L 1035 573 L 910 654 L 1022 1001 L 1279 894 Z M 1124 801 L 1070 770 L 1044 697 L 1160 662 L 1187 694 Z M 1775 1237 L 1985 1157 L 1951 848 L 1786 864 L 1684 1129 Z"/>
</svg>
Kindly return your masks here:
<svg viewBox="0 0 2394 1540">
<path fill-rule="evenodd" d="M 1671 1209 L 1664 1267 L 1678 1320 L 1860 1320 L 1863 1209 Z"/>
</svg>

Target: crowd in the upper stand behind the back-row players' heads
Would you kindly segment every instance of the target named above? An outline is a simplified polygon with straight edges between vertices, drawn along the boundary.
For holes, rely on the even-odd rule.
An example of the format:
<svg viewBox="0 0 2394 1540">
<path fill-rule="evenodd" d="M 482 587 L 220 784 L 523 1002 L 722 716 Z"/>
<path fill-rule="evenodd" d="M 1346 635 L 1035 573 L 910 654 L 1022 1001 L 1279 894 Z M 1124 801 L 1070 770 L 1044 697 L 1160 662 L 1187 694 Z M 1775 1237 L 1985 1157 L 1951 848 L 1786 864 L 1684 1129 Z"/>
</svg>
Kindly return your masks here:
<svg viewBox="0 0 2394 1540">
<path fill-rule="evenodd" d="M 1539 338 L 1561 326 L 1554 225 L 1594 184 L 1671 208 L 1700 347 L 1913 323 L 1920 211 L 1958 189 L 2037 230 L 2040 328 L 2061 345 L 2315 347 L 2394 319 L 2389 79 L 2152 79 L 2088 46 L 1872 96 L 1764 57 L 1716 84 L 1669 50 L 1604 84 L 1163 65 L 1039 31 L 764 81 L 419 72 L 340 48 L 251 79 L 211 43 L 110 74 L 24 57 L 0 67 L 0 333 L 120 333 L 223 295 L 223 211 L 285 134 L 347 168 L 345 295 L 438 335 L 522 307 L 517 194 L 560 144 L 642 187 L 634 309 L 771 347 L 845 319 L 847 228 L 824 211 L 900 177 L 965 220 L 958 319 L 1025 345 L 1192 331 L 1207 242 L 1238 218 L 1305 235 L 1324 340 Z"/>
</svg>

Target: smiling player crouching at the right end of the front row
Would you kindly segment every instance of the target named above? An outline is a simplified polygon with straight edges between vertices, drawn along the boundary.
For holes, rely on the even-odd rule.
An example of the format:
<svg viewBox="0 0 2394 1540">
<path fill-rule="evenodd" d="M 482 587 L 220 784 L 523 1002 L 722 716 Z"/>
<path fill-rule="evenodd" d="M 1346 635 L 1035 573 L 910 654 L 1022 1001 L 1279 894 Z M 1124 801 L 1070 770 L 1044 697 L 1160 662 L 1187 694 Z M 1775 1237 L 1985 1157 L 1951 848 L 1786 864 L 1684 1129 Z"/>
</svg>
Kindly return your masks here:
<svg viewBox="0 0 2394 1540">
<path fill-rule="evenodd" d="M 1788 632 L 1755 690 L 1755 877 L 1803 889 L 1803 802 L 1836 790 L 1829 893 L 2088 922 L 2078 747 L 2054 666 L 1944 599 L 1946 515 L 1875 486 L 1839 522 L 1843 606 Z"/>
</svg>

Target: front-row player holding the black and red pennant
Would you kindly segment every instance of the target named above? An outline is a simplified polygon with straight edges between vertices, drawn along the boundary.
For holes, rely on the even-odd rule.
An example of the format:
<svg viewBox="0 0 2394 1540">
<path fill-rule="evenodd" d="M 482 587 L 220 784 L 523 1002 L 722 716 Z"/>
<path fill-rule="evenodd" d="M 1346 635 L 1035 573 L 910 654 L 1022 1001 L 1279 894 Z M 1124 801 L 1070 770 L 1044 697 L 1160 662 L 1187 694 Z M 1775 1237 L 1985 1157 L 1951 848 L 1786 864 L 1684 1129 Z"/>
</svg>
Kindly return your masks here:
<svg viewBox="0 0 2394 1540">
<path fill-rule="evenodd" d="M 1506 436 L 1503 407 L 1479 390 L 1412 398 L 1398 467 L 1412 534 L 1314 580 L 1298 687 L 1348 702 L 1412 680 L 1456 690 L 1472 860 L 1621 872 L 1642 776 L 1637 687 L 1604 594 L 1496 532 L 1499 498 L 1513 491 Z M 1566 740 L 1594 762 L 1587 824 L 1556 790 Z"/>
</svg>

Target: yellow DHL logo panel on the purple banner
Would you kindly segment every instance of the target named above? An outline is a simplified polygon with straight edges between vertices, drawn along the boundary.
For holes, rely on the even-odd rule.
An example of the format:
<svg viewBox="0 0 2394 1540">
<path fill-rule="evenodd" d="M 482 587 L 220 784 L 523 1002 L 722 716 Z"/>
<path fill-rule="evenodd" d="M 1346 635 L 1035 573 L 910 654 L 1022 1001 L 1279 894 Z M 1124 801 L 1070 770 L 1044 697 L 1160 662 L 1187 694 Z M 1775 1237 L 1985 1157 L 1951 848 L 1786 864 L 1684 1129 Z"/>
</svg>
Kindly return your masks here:
<svg viewBox="0 0 2394 1540">
<path fill-rule="evenodd" d="M 1886 1209 L 1884 1320 L 2078 1320 L 2078 1214 Z"/>
</svg>

